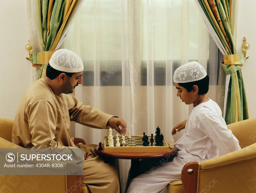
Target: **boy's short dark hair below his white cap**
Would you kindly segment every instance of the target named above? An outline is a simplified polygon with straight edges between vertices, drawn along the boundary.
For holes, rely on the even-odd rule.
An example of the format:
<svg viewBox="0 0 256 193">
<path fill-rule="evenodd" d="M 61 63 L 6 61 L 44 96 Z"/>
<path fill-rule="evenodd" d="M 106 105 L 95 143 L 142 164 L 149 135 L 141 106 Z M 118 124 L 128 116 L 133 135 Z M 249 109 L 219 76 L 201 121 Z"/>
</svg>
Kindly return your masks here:
<svg viewBox="0 0 256 193">
<path fill-rule="evenodd" d="M 206 94 L 209 90 L 209 76 L 206 75 L 203 79 L 194 82 L 178 83 L 178 85 L 187 89 L 188 92 L 192 91 L 193 86 L 196 85 L 199 95 Z"/>
</svg>

